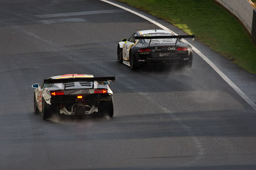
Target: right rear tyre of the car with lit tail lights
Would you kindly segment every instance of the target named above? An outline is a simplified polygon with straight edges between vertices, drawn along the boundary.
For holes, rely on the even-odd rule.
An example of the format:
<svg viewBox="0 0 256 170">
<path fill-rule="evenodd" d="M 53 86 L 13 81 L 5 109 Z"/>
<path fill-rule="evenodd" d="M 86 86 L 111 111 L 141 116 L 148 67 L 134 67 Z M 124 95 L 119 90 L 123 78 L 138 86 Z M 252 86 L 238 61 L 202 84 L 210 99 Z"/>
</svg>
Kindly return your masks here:
<svg viewBox="0 0 256 170">
<path fill-rule="evenodd" d="M 100 101 L 99 113 L 103 117 L 104 116 L 113 117 L 114 115 L 113 99 L 111 99 L 111 101 Z"/>
</svg>

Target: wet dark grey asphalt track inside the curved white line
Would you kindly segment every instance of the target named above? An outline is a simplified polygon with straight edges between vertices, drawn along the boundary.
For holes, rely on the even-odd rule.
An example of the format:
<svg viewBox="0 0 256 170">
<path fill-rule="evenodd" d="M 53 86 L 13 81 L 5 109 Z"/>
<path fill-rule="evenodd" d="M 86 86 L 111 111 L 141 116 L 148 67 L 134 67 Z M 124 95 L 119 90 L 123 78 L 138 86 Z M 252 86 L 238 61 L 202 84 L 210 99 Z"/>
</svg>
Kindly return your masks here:
<svg viewBox="0 0 256 170">
<path fill-rule="evenodd" d="M 256 169 L 255 111 L 196 53 L 190 70 L 116 62 L 154 27 L 96 0 L 1 0 L 1 169 Z M 114 118 L 35 115 L 31 85 L 66 73 L 116 76 Z"/>
</svg>

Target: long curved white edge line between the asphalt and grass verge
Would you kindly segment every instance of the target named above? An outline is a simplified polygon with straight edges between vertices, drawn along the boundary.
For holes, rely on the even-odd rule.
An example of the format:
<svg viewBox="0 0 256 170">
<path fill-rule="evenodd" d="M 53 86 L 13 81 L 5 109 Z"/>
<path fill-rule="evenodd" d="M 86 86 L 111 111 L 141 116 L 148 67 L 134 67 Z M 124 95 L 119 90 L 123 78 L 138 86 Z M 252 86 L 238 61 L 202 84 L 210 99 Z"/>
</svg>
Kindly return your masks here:
<svg viewBox="0 0 256 170">
<path fill-rule="evenodd" d="M 128 9 L 128 8 L 125 8 L 124 6 L 120 6 L 120 5 L 118 5 L 118 4 L 111 3 L 111 2 L 109 2 L 109 1 L 107 1 L 107 0 L 100 0 L 100 1 L 102 1 L 102 2 L 104 2 L 104 3 L 112 4 L 113 6 L 116 6 L 116 7 L 118 7 L 118 8 L 123 9 L 123 10 L 129 11 L 130 13 L 133 13 L 134 15 L 138 15 L 139 17 L 144 18 L 145 20 L 148 20 L 148 21 L 151 22 L 152 24 L 155 24 L 155 25 L 157 25 L 158 27 L 161 27 L 161 29 L 170 30 L 170 29 L 168 29 L 167 27 L 165 27 L 164 25 L 159 24 L 159 23 L 156 22 L 155 20 L 152 20 L 152 19 L 146 17 L 145 15 L 141 15 L 140 13 L 138 13 L 138 12 L 136 12 L 136 11 L 130 10 L 130 9 Z M 173 31 L 172 31 L 172 32 L 173 32 Z M 175 32 L 173 32 L 173 33 L 174 33 L 175 35 L 177 35 Z M 186 41 L 186 40 L 184 40 L 184 39 L 183 39 L 182 41 L 184 41 L 185 43 L 188 43 L 188 41 Z M 188 44 L 191 45 L 190 43 L 188 43 Z M 244 94 L 244 92 L 243 92 L 241 89 L 239 89 L 239 87 L 237 87 L 237 85 L 235 85 L 235 84 L 234 84 L 217 66 L 215 66 L 215 64 L 213 64 L 213 63 L 211 62 L 211 60 L 209 60 L 202 52 L 200 52 L 197 48 L 195 48 L 195 46 L 193 46 L 193 45 L 191 45 L 191 46 L 192 46 L 194 52 L 196 52 L 202 59 L 204 59 L 205 62 L 207 62 L 207 64 L 209 64 L 209 66 L 211 66 L 212 69 L 214 69 L 214 71 L 216 71 L 216 73 L 218 73 L 218 74 L 221 76 L 221 78 L 223 78 L 223 80 L 225 80 L 225 81 L 228 83 L 228 85 L 230 85 L 230 87 L 232 87 L 232 88 L 237 92 L 237 94 L 239 94 L 239 96 L 241 96 L 241 97 L 244 99 L 244 101 L 246 101 L 248 104 L 250 104 L 250 106 L 252 106 L 252 108 L 253 108 L 254 110 L 256 110 L 256 104 L 253 103 L 253 101 L 252 101 L 248 96 L 246 96 L 246 94 Z"/>
</svg>

